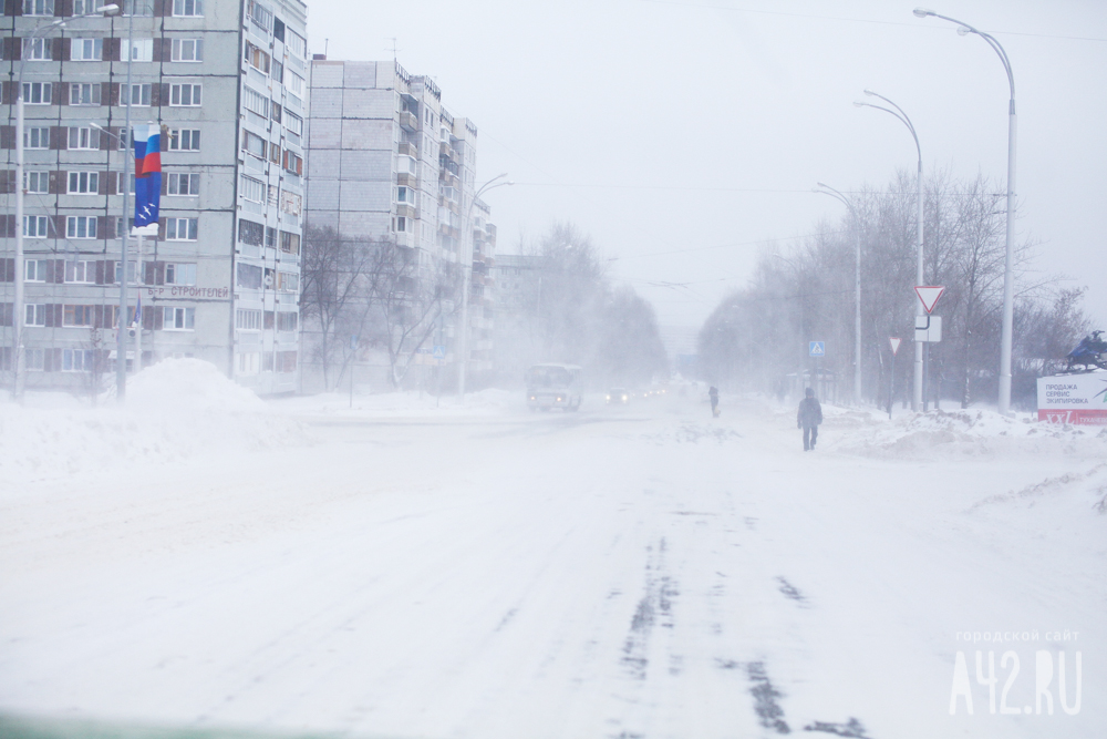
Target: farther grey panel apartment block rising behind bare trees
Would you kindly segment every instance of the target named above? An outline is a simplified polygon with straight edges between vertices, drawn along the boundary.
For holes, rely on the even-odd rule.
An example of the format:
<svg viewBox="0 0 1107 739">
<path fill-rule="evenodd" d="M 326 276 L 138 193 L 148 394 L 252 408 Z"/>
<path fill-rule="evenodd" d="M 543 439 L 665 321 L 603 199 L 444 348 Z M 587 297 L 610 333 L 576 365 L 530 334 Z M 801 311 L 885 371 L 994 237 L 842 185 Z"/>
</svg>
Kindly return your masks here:
<svg viewBox="0 0 1107 739">
<path fill-rule="evenodd" d="M 464 258 L 468 216 L 475 260 L 477 254 L 490 256 L 495 227 L 489 238 L 488 208 L 469 212 L 479 205 L 473 201 L 477 129 L 443 107 L 433 80 L 411 75 L 395 61 L 317 55 L 311 100 L 307 217 L 312 227 L 334 228 L 343 239 L 395 239 L 416 249 L 420 265 L 431 266 Z M 490 290 L 485 291 L 483 274 L 479 279 L 480 302 L 470 310 L 470 324 L 484 327 L 483 301 Z M 470 367 L 483 368 L 479 352 L 486 349 L 474 348 L 472 340 L 469 346 Z"/>
</svg>

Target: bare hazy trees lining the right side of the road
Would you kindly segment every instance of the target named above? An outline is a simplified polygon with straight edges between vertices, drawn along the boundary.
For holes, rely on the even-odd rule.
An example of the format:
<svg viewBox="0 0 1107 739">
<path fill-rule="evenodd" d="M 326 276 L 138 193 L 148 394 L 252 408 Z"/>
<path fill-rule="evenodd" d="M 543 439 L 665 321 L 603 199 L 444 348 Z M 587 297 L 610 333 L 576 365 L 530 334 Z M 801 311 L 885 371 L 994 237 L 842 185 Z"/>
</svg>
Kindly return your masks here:
<svg viewBox="0 0 1107 739">
<path fill-rule="evenodd" d="M 997 392 L 1005 254 L 1002 186 L 977 176 L 939 173 L 924 183 L 924 275 L 945 286 L 935 315 L 942 341 L 930 347 L 928 398 L 962 408 Z M 861 357 L 866 400 L 887 402 L 892 384 L 907 393 L 913 372 L 918 207 L 913 175 L 849 195 L 853 214 L 823 222 L 797 247 L 769 244 L 749 285 L 728 295 L 700 333 L 708 379 L 733 387 L 779 389 L 789 373 L 814 369 L 808 341 L 825 340 L 823 368 L 839 391 L 852 387 L 855 248 L 861 245 Z M 1082 289 L 1033 269 L 1034 244 L 1015 248 L 1013 402 L 1033 406 L 1034 379 L 1049 371 L 1088 329 Z M 891 336 L 904 339 L 893 359 Z M 897 392 L 897 397 L 901 396 Z M 841 393 L 840 393 L 841 394 Z M 845 393 L 848 397 L 849 393 Z"/>
</svg>

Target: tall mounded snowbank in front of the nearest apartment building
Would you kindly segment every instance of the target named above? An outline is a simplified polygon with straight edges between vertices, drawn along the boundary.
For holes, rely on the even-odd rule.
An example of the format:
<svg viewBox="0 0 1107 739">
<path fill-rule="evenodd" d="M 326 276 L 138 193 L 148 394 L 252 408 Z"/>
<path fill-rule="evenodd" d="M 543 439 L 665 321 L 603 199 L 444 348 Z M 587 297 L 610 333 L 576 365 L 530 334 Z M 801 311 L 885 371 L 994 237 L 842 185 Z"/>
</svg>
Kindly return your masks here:
<svg viewBox="0 0 1107 739">
<path fill-rule="evenodd" d="M 272 414 L 208 362 L 167 359 L 127 382 L 124 407 L 58 396 L 0 404 L 0 480 L 18 482 L 184 462 L 199 452 L 237 454 L 307 443 L 294 420 Z M 48 406 L 48 407 L 41 407 Z"/>
</svg>

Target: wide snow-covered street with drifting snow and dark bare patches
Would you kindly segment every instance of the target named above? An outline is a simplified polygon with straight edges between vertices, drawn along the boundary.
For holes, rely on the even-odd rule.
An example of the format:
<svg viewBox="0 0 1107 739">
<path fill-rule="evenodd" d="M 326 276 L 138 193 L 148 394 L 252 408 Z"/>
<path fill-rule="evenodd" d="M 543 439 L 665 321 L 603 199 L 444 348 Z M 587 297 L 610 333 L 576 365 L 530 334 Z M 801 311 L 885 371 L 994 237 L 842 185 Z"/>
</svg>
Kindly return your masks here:
<svg viewBox="0 0 1107 739">
<path fill-rule="evenodd" d="M 505 397 L 270 401 L 301 441 L 0 480 L 0 712 L 352 737 L 1107 735 L 1103 434 L 892 443 L 880 415 L 828 409 L 804 453 L 794 407 L 768 401 L 713 420 L 700 398 L 531 414 Z M 1082 653 L 1074 715 L 1056 675 L 1052 715 L 1023 714 L 1041 649 L 1055 671 L 1066 653 L 1069 709 Z M 959 650 L 972 716 L 950 715 Z M 976 650 L 985 669 L 995 651 L 994 714 Z"/>
</svg>

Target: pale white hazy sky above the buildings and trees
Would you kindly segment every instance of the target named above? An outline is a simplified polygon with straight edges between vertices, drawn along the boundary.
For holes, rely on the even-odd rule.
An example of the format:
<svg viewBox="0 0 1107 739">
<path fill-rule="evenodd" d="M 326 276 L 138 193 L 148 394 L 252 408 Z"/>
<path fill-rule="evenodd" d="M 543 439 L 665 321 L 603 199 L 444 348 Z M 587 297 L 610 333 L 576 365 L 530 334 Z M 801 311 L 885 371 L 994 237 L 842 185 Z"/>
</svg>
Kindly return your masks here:
<svg viewBox="0 0 1107 739">
<path fill-rule="evenodd" d="M 931 2 L 931 0 L 925 0 Z M 932 0 L 994 34 L 1018 105 L 1017 235 L 1037 268 L 1089 288 L 1107 328 L 1107 3 Z M 312 2 L 310 45 L 428 74 L 479 127 L 500 253 L 555 218 L 590 233 L 663 324 L 699 326 L 766 242 L 795 243 L 849 191 L 923 166 L 1006 177 L 996 54 L 899 0 Z M 664 287 L 664 283 L 683 284 Z"/>
</svg>

